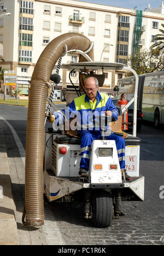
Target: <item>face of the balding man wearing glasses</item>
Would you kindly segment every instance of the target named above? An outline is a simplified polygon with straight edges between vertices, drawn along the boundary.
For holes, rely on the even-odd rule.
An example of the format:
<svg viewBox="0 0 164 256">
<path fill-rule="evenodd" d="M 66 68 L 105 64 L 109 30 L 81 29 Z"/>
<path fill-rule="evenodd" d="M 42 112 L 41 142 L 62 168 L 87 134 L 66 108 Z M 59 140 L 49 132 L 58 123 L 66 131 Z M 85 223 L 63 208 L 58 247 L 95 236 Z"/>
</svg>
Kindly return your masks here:
<svg viewBox="0 0 164 256">
<path fill-rule="evenodd" d="M 97 96 L 98 86 L 96 87 L 95 80 L 90 77 L 85 81 L 85 92 L 90 100 L 93 100 Z"/>
</svg>

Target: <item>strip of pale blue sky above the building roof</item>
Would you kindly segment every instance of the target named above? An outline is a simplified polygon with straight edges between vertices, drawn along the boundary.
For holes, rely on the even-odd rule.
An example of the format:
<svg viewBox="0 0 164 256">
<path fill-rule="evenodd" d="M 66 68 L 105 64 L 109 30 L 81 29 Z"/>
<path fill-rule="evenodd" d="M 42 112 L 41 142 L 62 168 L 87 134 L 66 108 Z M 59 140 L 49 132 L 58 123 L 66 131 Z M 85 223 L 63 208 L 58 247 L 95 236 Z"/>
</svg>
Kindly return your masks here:
<svg viewBox="0 0 164 256">
<path fill-rule="evenodd" d="M 134 9 L 137 7 L 137 10 L 144 10 L 148 8 L 148 4 L 150 3 L 151 8 L 160 7 L 162 0 L 77 0 L 80 2 L 89 2 L 96 4 L 105 4 L 109 6 L 122 7 L 128 9 Z M 164 2 L 164 1 L 163 1 Z"/>
</svg>

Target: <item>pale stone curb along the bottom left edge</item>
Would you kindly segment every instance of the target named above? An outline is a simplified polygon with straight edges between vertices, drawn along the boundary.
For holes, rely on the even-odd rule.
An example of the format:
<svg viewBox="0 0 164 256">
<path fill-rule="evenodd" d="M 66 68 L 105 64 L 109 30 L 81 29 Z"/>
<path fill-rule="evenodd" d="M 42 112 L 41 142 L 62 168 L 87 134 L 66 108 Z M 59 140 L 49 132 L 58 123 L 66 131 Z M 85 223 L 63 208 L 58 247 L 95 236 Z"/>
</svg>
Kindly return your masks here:
<svg viewBox="0 0 164 256">
<path fill-rule="evenodd" d="M 19 245 L 15 203 L 3 130 L 0 129 L 0 245 Z"/>
</svg>

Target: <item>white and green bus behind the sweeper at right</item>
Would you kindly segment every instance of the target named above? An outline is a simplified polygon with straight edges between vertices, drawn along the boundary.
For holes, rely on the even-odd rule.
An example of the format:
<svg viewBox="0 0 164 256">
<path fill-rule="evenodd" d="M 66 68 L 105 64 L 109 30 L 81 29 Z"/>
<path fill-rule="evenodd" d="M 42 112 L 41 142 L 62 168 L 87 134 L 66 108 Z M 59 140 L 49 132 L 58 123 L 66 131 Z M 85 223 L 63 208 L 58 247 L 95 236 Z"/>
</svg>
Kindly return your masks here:
<svg viewBox="0 0 164 256">
<path fill-rule="evenodd" d="M 142 110 L 143 120 L 164 124 L 164 71 L 139 75 L 137 107 Z M 133 97 L 135 79 L 127 77 L 118 80 L 116 97 L 125 92 L 126 100 Z"/>
</svg>

